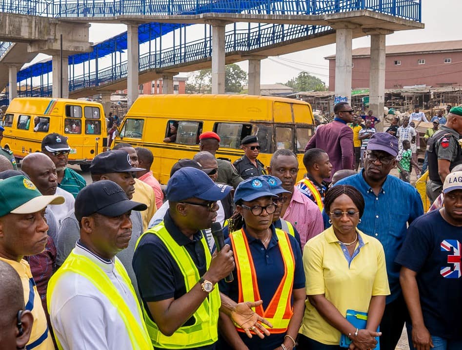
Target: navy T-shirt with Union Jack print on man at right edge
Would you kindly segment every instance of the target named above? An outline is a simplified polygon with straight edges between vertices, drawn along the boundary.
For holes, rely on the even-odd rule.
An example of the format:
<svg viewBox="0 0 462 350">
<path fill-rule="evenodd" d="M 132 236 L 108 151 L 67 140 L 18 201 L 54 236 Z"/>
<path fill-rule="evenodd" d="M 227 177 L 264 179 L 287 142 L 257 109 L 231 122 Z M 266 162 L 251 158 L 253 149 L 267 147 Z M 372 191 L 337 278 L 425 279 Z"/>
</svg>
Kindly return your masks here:
<svg viewBox="0 0 462 350">
<path fill-rule="evenodd" d="M 417 272 L 423 322 L 431 335 L 462 339 L 462 227 L 439 210 L 416 219 L 396 263 Z"/>
</svg>

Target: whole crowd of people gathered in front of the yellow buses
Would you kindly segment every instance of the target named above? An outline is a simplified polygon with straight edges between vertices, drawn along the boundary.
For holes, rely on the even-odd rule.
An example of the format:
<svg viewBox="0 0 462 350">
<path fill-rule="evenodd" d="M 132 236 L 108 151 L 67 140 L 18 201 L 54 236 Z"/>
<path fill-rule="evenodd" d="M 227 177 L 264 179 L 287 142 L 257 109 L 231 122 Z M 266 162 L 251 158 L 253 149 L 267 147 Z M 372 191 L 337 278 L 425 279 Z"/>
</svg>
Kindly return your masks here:
<svg viewBox="0 0 462 350">
<path fill-rule="evenodd" d="M 394 350 L 404 325 L 411 350 L 462 349 L 462 107 L 426 133 L 427 214 L 409 119 L 334 112 L 302 165 L 253 135 L 233 165 L 204 132 L 164 189 L 131 144 L 88 185 L 62 135 L 20 170 L 0 155 L 1 349 Z"/>
</svg>

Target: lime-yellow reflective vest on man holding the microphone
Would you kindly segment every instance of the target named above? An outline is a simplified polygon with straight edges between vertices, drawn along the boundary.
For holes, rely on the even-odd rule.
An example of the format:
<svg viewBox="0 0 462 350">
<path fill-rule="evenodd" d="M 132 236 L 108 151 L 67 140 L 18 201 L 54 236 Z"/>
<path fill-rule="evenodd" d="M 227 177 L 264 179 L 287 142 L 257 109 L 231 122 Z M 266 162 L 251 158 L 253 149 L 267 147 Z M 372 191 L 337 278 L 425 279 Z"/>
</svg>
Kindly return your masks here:
<svg viewBox="0 0 462 350">
<path fill-rule="evenodd" d="M 141 238 L 146 234 L 155 234 L 165 244 L 165 247 L 167 247 L 172 258 L 180 268 L 181 274 L 184 277 L 186 292 L 189 292 L 198 283 L 201 276 L 186 248 L 179 246 L 178 243 L 175 242 L 162 221 L 159 225 L 152 227 L 141 235 L 135 250 Z M 210 261 L 212 260 L 212 255 L 210 254 L 209 247 L 204 237 L 202 237 L 201 243 L 204 247 L 206 268 L 208 269 Z M 194 324 L 180 327 L 171 336 L 167 336 L 162 334 L 156 323 L 152 321 L 143 303 L 144 321 L 146 322 L 152 344 L 156 348 L 183 349 L 185 347 L 198 348 L 215 343 L 218 340 L 218 316 L 220 306 L 220 292 L 218 286 L 215 286 L 199 308 L 194 312 Z"/>
</svg>

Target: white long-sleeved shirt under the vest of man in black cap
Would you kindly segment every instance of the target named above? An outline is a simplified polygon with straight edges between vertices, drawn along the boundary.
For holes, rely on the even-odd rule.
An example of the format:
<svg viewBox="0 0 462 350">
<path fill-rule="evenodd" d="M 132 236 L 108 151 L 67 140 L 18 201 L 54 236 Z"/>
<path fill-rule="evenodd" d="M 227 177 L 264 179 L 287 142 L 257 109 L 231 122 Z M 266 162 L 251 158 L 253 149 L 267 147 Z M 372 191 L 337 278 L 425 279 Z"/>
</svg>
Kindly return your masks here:
<svg viewBox="0 0 462 350">
<path fill-rule="evenodd" d="M 74 252 L 102 268 L 141 323 L 137 301 L 117 272 L 114 259 L 100 258 L 79 242 Z M 49 302 L 51 324 L 64 350 L 133 349 L 119 312 L 85 277 L 73 272 L 62 275 L 52 295 Z"/>
</svg>

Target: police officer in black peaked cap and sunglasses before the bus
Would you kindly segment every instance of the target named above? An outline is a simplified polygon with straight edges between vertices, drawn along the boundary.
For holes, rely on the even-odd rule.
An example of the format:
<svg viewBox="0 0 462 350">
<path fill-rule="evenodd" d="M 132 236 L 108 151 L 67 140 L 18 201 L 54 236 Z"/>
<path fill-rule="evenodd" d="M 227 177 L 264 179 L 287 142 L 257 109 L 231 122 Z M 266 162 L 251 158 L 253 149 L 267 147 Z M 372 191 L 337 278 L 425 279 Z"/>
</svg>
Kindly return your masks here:
<svg viewBox="0 0 462 350">
<path fill-rule="evenodd" d="M 248 179 L 254 176 L 266 175 L 265 166 L 257 157 L 260 153 L 260 144 L 258 137 L 246 136 L 241 141 L 241 148 L 244 150 L 244 156 L 236 160 L 233 165 L 241 174 L 242 179 Z"/>
</svg>

